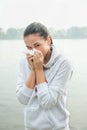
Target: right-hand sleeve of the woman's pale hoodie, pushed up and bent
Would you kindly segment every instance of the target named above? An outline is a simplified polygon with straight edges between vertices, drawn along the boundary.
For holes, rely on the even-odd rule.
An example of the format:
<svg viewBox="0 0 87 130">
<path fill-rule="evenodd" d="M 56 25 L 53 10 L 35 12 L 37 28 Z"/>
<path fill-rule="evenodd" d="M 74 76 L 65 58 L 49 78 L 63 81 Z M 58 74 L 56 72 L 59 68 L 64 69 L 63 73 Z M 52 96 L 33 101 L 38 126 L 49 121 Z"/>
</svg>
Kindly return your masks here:
<svg viewBox="0 0 87 130">
<path fill-rule="evenodd" d="M 53 107 L 57 103 L 59 95 L 65 94 L 65 86 L 68 79 L 71 78 L 71 70 L 71 64 L 64 61 L 54 76 L 51 86 L 48 86 L 46 82 L 36 86 L 39 104 L 44 109 Z"/>
</svg>

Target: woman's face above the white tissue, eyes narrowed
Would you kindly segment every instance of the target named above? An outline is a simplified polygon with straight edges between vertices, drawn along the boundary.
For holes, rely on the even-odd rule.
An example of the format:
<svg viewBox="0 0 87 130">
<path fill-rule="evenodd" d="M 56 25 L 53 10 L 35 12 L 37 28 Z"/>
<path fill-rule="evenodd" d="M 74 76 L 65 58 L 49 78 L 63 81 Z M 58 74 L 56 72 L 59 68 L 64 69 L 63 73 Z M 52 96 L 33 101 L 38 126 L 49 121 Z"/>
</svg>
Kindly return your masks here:
<svg viewBox="0 0 87 130">
<path fill-rule="evenodd" d="M 32 50 L 35 48 L 36 50 L 41 51 L 44 57 L 47 53 L 50 52 L 51 40 L 49 36 L 47 37 L 47 39 L 44 39 L 38 33 L 30 34 L 24 37 L 24 42 L 27 49 Z"/>
</svg>

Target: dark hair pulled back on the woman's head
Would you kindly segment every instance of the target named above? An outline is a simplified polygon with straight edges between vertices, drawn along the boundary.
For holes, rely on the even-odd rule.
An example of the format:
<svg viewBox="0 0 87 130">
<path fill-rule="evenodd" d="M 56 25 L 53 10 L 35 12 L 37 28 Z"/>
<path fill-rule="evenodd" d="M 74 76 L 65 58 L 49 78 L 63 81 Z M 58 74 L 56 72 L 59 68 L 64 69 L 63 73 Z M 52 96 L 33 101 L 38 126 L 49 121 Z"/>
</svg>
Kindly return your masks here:
<svg viewBox="0 0 87 130">
<path fill-rule="evenodd" d="M 24 30 L 24 37 L 27 36 L 27 35 L 36 34 L 36 33 L 38 33 L 44 39 L 47 39 L 47 37 L 49 35 L 49 32 L 48 32 L 47 28 L 43 24 L 33 22 L 30 25 L 28 25 L 26 27 L 26 29 Z M 51 36 L 50 36 L 50 39 L 51 39 L 51 44 L 52 44 L 53 42 L 52 42 Z"/>
</svg>

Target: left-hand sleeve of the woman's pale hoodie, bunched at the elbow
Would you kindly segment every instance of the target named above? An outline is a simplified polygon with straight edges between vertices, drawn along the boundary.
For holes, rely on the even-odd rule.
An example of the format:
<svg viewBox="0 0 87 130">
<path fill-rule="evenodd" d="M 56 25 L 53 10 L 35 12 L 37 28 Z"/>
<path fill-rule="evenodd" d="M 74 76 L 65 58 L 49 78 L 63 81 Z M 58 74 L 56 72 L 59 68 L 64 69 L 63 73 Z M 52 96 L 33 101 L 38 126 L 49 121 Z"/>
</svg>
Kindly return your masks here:
<svg viewBox="0 0 87 130">
<path fill-rule="evenodd" d="M 17 79 L 17 87 L 16 87 L 16 96 L 20 103 L 27 105 L 33 89 L 28 88 L 25 85 L 26 81 L 26 67 L 25 67 L 25 61 L 22 59 L 19 63 L 18 67 L 18 79 Z"/>
</svg>

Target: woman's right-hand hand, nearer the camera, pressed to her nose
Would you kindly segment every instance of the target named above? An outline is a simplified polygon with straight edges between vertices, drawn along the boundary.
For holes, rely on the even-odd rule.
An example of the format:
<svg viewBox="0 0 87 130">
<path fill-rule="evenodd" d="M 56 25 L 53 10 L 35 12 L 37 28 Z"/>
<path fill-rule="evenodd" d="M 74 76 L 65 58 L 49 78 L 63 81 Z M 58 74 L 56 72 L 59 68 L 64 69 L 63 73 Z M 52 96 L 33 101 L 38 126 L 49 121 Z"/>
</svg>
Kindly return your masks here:
<svg viewBox="0 0 87 130">
<path fill-rule="evenodd" d="M 43 69 L 43 54 L 40 51 L 36 51 L 34 56 L 33 56 L 33 64 L 34 64 L 34 68 L 35 70 L 41 70 Z"/>
</svg>

